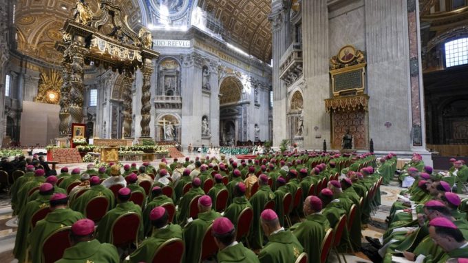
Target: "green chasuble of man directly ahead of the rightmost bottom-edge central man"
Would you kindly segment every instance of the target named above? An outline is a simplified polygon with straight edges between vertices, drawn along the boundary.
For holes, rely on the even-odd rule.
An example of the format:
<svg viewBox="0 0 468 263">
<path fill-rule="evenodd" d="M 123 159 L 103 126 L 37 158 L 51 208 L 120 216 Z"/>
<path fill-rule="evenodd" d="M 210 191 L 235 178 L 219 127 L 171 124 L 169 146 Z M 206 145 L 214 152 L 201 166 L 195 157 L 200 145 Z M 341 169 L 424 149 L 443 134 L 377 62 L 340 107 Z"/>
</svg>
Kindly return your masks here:
<svg viewBox="0 0 468 263">
<path fill-rule="evenodd" d="M 271 191 L 268 185 L 259 187 L 257 193 L 249 200 L 253 208 L 251 231 L 248 233 L 248 240 L 251 242 L 252 249 L 261 249 L 263 246 L 264 233 L 262 227 L 260 227 L 260 214 L 264 210 L 265 204 L 270 200 L 275 200 L 275 193 Z"/>
</svg>

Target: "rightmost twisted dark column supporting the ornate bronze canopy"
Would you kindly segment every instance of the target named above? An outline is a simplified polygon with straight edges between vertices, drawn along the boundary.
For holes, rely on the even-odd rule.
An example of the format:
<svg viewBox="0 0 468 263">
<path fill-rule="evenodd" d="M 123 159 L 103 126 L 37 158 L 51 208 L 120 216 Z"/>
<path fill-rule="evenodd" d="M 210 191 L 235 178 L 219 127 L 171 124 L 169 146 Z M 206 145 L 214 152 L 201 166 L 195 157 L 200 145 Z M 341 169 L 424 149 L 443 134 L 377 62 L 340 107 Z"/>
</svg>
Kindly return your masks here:
<svg viewBox="0 0 468 263">
<path fill-rule="evenodd" d="M 140 138 L 151 138 L 149 123 L 151 121 L 151 74 L 153 74 L 153 62 L 151 59 L 145 59 L 145 65 L 142 67 L 143 85 L 141 95 L 141 136 Z"/>
</svg>

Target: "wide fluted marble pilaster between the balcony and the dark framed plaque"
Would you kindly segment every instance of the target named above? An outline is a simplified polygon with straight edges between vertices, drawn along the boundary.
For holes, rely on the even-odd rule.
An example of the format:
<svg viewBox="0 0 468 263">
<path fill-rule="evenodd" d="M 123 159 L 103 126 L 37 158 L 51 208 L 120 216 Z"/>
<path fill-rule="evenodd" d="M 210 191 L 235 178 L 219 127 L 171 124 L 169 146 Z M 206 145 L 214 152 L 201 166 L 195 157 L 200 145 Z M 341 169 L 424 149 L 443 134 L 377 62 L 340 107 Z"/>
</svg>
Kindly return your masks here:
<svg viewBox="0 0 468 263">
<path fill-rule="evenodd" d="M 302 16 L 304 147 L 322 149 L 323 140 L 330 145 L 330 114 L 324 102 L 330 98 L 327 1 L 303 1 L 302 14 L 307 14 Z"/>
</svg>

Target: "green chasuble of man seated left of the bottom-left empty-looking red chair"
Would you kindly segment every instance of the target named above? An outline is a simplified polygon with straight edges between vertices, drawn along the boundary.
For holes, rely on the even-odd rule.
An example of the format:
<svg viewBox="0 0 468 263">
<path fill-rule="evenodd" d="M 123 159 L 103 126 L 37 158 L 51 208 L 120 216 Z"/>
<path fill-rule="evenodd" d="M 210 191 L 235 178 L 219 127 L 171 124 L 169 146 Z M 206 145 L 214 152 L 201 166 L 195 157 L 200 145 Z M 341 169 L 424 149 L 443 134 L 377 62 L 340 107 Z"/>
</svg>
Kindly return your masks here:
<svg viewBox="0 0 468 263">
<path fill-rule="evenodd" d="M 49 200 L 50 196 L 39 196 L 36 200 L 28 202 L 23 211 L 19 213 L 18 218 L 20 220 L 18 224 L 17 238 L 14 240 L 13 249 L 13 255 L 18 259 L 18 262 L 24 262 L 25 260 L 26 249 L 28 248 L 27 238 L 31 231 L 32 215 L 34 215 L 36 211 L 39 211 L 39 209 L 49 207 Z"/>
</svg>

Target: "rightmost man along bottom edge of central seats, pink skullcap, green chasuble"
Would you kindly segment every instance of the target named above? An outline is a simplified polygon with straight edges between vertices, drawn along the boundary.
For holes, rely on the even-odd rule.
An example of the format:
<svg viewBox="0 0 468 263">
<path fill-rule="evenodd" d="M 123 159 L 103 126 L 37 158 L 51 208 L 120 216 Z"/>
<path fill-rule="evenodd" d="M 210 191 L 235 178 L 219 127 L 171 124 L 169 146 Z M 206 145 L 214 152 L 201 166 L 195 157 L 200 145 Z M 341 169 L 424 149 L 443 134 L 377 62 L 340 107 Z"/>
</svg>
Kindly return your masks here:
<svg viewBox="0 0 468 263">
<path fill-rule="evenodd" d="M 260 224 L 268 238 L 268 243 L 260 251 L 258 259 L 262 263 L 293 263 L 304 252 L 299 240 L 291 231 L 281 227 L 278 215 L 271 209 L 262 211 Z"/>
</svg>

